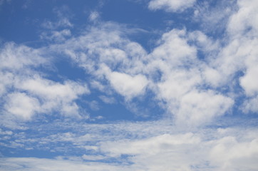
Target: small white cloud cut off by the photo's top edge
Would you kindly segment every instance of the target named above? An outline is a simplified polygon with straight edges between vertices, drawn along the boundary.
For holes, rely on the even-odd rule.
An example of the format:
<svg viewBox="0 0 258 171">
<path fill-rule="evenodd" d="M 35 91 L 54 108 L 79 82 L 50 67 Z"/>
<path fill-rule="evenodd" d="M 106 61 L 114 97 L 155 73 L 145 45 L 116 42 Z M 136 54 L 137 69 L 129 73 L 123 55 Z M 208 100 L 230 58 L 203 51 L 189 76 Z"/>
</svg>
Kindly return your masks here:
<svg viewBox="0 0 258 171">
<path fill-rule="evenodd" d="M 148 8 L 151 10 L 164 9 L 167 12 L 182 12 L 194 4 L 195 0 L 151 0 Z"/>
</svg>

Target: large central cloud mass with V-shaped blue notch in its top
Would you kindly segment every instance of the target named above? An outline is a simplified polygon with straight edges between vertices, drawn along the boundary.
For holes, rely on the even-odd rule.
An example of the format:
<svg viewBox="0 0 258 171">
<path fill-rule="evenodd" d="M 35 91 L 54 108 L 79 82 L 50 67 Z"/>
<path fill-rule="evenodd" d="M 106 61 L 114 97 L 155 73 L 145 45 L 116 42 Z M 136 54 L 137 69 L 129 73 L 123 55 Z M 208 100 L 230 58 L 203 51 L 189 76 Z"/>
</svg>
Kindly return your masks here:
<svg viewBox="0 0 258 171">
<path fill-rule="evenodd" d="M 200 31 L 187 33 L 172 29 L 162 35 L 153 51 L 147 53 L 140 44 L 123 34 L 130 34 L 130 30 L 122 30 L 125 29 L 119 24 L 100 23 L 84 35 L 51 48 L 58 49 L 86 73 L 91 73 L 95 77 L 92 86 L 101 91 L 109 89 L 104 86 L 108 83 L 130 101 L 143 96 L 145 90 L 152 90 L 154 99 L 166 104 L 166 110 L 175 116 L 179 125 L 209 123 L 232 107 L 232 97 L 212 88 L 220 85 L 220 71 L 213 68 L 209 58 L 203 61 L 197 56 L 199 48 L 204 53 L 213 53 L 219 46 L 216 41 Z M 193 41 L 197 45 L 190 43 Z M 186 119 L 188 122 L 184 122 Z"/>
</svg>

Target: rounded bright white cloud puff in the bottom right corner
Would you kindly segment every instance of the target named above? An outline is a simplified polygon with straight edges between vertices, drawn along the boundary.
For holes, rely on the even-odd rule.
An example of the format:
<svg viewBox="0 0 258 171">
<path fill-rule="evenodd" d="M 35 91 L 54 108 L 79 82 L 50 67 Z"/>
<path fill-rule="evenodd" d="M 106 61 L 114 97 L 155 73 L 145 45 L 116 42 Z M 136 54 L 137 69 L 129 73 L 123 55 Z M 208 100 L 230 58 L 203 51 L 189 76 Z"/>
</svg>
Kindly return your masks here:
<svg viewBox="0 0 258 171">
<path fill-rule="evenodd" d="M 218 170 L 257 170 L 258 139 L 238 142 L 234 137 L 222 138 L 215 142 L 209 157 Z"/>
</svg>

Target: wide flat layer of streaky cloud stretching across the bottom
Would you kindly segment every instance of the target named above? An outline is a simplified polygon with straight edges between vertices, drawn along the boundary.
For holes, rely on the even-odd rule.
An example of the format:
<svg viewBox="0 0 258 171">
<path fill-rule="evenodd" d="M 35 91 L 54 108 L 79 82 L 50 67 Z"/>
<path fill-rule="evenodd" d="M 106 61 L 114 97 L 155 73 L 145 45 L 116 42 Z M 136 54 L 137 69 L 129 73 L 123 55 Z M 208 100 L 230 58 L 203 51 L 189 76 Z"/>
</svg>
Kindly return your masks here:
<svg viewBox="0 0 258 171">
<path fill-rule="evenodd" d="M 230 118 L 225 122 L 230 122 Z M 14 147 L 31 147 L 28 142 L 34 142 L 35 148 L 41 146 L 46 150 L 46 147 L 51 147 L 51 150 L 57 152 L 80 152 L 77 157 L 4 157 L 0 165 L 6 170 L 73 170 L 74 167 L 77 170 L 103 170 L 103 166 L 105 170 L 153 171 L 257 169 L 257 128 L 188 128 L 191 130 L 188 132 L 178 130 L 169 120 L 68 123 L 61 120 L 52 125 L 39 125 L 38 130 L 43 128 L 46 134 L 35 135 L 33 138 L 30 131 L 15 134 L 13 138 L 17 144 Z M 73 133 L 55 134 L 48 131 L 60 128 Z M 8 145 L 10 146 L 9 142 Z M 42 162 L 48 162 L 48 165 L 43 165 Z M 66 168 L 63 167 L 63 162 L 66 163 Z"/>
</svg>

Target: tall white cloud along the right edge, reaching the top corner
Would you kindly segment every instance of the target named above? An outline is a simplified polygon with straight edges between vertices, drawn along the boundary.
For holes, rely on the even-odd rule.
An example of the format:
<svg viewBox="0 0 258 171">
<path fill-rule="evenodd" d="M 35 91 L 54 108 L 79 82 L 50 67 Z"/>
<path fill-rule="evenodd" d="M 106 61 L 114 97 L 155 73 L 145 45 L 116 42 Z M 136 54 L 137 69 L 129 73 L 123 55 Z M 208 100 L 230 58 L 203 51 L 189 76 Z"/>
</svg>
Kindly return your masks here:
<svg viewBox="0 0 258 171">
<path fill-rule="evenodd" d="M 212 64 L 216 70 L 220 86 L 232 84 L 234 77 L 239 79 L 247 96 L 242 105 L 244 113 L 257 112 L 257 1 L 237 1 L 238 10 L 229 17 L 227 24 L 227 38 L 229 43 L 222 47 L 220 54 Z M 243 76 L 237 72 L 242 71 Z M 217 74 L 219 73 L 219 74 Z M 236 92 L 238 93 L 238 92 Z"/>
</svg>

